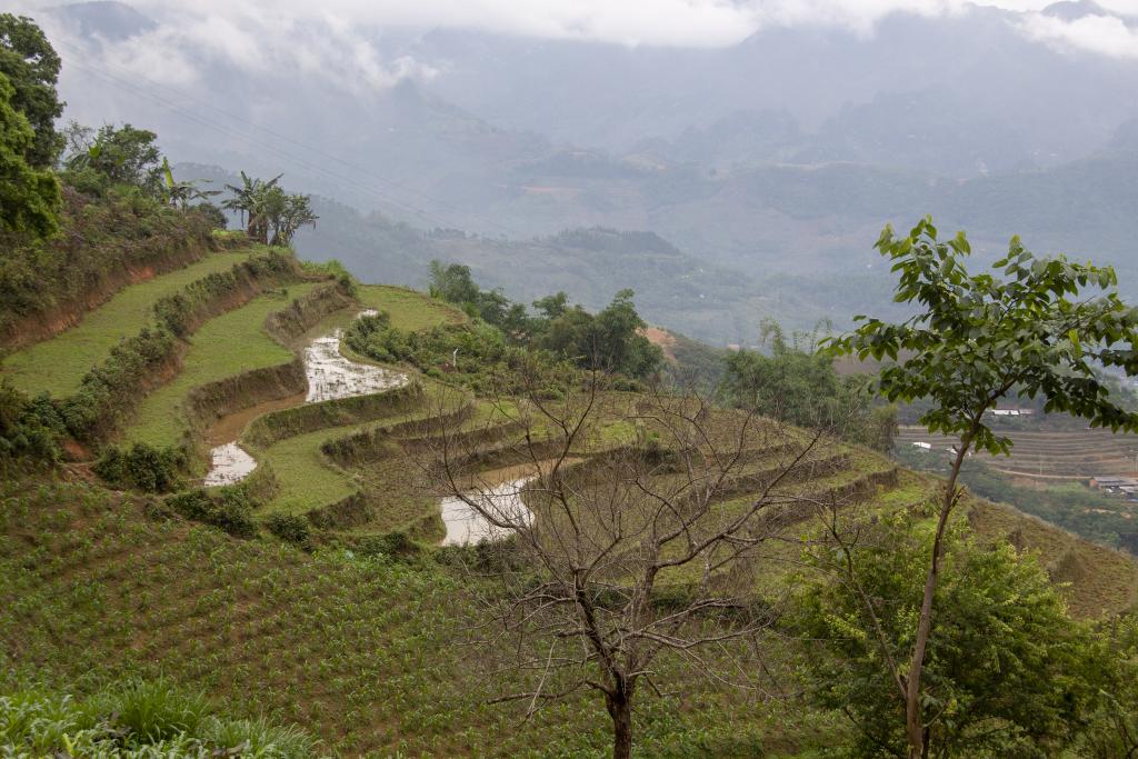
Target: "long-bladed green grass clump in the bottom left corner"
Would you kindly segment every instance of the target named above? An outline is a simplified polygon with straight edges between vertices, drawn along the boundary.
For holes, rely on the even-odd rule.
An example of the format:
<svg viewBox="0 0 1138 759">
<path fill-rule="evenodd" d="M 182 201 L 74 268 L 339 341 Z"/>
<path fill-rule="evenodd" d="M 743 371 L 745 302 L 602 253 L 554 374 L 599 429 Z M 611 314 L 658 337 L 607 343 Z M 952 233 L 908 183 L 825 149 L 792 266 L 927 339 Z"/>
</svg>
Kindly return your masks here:
<svg viewBox="0 0 1138 759">
<path fill-rule="evenodd" d="M 166 680 L 127 680 L 75 699 L 46 687 L 0 694 L 0 744 L 13 756 L 308 757 L 314 742 L 296 727 L 214 713 L 198 693 Z"/>
</svg>

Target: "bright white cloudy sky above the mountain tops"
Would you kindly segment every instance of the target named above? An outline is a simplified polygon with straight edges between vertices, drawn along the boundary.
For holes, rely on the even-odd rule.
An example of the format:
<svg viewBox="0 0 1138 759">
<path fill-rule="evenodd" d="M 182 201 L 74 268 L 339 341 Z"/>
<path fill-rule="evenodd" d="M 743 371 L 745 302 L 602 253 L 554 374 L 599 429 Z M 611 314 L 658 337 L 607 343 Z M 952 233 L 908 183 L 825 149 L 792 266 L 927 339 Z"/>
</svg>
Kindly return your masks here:
<svg viewBox="0 0 1138 759">
<path fill-rule="evenodd" d="M 19 3 L 20 0 L 17 0 Z M 23 0 L 23 10 L 58 0 Z M 339 85 L 379 90 L 429 79 L 430 64 L 385 55 L 376 27 L 478 28 L 541 39 L 625 46 L 724 47 L 768 25 L 823 24 L 873 34 L 893 11 L 955 14 L 963 0 L 135 0 L 155 32 L 99 51 L 107 64 L 166 84 L 200 81 L 200 61 L 249 71 L 298 69 Z M 1021 11 L 1021 33 L 1055 48 L 1138 60 L 1138 0 L 1099 0 L 1110 13 L 1064 22 L 1037 13 L 1047 0 L 996 0 Z M 1123 16 L 1133 16 L 1130 23 Z M 53 39 L 65 33 L 49 28 Z M 68 49 L 60 52 L 66 60 Z"/>
</svg>

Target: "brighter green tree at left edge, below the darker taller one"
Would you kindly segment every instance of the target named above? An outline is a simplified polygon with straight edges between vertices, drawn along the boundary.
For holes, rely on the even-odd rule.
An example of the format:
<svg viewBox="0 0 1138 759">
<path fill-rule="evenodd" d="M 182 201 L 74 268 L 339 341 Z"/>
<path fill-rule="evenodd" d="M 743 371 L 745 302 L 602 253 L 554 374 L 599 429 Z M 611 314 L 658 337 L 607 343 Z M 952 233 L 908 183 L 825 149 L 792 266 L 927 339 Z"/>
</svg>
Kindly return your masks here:
<svg viewBox="0 0 1138 759">
<path fill-rule="evenodd" d="M 34 134 L 11 106 L 14 92 L 0 74 L 0 229 L 47 237 L 58 226 L 59 182 L 50 171 L 28 164 Z"/>
</svg>

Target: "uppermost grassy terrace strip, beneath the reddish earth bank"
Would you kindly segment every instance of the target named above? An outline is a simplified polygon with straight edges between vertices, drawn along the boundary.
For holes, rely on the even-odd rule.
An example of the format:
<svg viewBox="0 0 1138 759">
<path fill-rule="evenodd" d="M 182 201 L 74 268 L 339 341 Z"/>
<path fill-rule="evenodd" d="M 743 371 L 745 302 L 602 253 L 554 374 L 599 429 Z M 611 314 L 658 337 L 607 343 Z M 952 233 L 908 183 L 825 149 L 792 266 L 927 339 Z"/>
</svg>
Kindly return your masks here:
<svg viewBox="0 0 1138 759">
<path fill-rule="evenodd" d="M 77 325 L 6 356 L 0 370 L 25 393 L 68 396 L 79 389 L 83 374 L 102 361 L 116 343 L 154 321 L 157 300 L 208 274 L 228 271 L 258 253 L 263 249 L 255 246 L 213 253 L 184 269 L 132 284 L 88 313 Z"/>
</svg>

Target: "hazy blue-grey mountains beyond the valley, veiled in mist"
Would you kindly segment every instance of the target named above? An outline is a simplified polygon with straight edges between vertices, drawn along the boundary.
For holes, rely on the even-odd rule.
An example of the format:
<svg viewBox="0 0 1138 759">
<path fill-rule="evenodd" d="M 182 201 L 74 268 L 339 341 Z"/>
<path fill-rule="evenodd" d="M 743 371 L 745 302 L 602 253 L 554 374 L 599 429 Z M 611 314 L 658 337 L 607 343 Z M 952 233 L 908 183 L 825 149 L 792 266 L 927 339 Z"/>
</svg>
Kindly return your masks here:
<svg viewBox="0 0 1138 759">
<path fill-rule="evenodd" d="M 1019 14 L 768 26 L 719 49 L 363 28 L 410 73 L 366 85 L 188 49 L 166 56 L 196 75 L 176 88 L 100 67 L 108 46 L 167 40 L 159 19 L 112 2 L 50 16 L 68 115 L 117 114 L 175 160 L 284 172 L 335 199 L 298 244 L 362 277 L 420 284 L 439 257 L 520 299 L 564 289 L 600 307 L 633 287 L 653 321 L 739 343 L 761 316 L 844 324 L 889 308 L 871 246 L 884 223 L 932 213 L 981 261 L 1019 233 L 1037 253 L 1119 265 L 1138 295 L 1138 102 L 1122 97 L 1138 61 L 1058 51 Z M 579 229 L 674 248 L 558 238 Z"/>
</svg>

